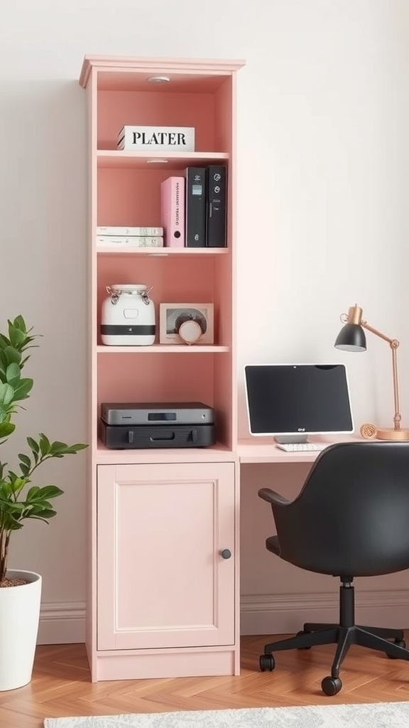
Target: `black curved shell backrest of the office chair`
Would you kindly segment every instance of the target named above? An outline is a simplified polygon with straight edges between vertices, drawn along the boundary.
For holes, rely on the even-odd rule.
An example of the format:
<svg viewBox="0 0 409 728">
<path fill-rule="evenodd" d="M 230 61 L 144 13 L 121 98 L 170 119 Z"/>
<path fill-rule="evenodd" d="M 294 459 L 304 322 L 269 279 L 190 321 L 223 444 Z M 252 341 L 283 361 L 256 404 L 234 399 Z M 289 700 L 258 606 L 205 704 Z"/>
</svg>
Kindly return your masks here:
<svg viewBox="0 0 409 728">
<path fill-rule="evenodd" d="M 409 568 L 409 443 L 339 443 L 322 451 L 300 494 L 273 506 L 281 556 L 334 576 Z"/>
</svg>

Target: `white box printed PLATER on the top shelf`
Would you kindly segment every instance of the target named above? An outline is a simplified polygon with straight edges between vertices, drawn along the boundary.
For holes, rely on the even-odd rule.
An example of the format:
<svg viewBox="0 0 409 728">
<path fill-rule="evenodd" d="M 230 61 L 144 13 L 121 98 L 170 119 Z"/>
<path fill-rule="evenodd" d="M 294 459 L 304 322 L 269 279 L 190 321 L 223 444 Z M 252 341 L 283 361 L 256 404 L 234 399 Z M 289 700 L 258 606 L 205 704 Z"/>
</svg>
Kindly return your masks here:
<svg viewBox="0 0 409 728">
<path fill-rule="evenodd" d="M 117 146 L 126 151 L 194 151 L 194 127 L 122 127 Z"/>
</svg>

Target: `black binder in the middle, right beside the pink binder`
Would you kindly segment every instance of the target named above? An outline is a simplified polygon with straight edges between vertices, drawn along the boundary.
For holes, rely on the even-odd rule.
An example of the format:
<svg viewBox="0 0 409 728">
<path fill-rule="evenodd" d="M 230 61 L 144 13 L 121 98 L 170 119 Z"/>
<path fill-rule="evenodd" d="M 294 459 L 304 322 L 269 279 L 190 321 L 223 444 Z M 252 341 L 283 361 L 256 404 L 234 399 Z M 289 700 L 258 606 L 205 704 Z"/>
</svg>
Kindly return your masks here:
<svg viewBox="0 0 409 728">
<path fill-rule="evenodd" d="M 186 169 L 186 247 L 206 245 L 206 169 Z"/>
</svg>

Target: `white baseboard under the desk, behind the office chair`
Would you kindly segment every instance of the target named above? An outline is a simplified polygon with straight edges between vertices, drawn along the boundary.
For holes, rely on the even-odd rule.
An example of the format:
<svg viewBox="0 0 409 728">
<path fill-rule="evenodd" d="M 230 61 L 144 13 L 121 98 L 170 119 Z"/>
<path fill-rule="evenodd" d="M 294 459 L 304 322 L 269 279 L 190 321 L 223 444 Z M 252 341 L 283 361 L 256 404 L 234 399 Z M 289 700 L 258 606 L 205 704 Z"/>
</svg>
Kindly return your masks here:
<svg viewBox="0 0 409 728">
<path fill-rule="evenodd" d="M 408 629 L 409 590 L 356 590 L 355 611 L 358 624 Z M 338 622 L 338 592 L 242 596 L 240 612 L 242 635 L 291 634 L 303 622 Z"/>
</svg>

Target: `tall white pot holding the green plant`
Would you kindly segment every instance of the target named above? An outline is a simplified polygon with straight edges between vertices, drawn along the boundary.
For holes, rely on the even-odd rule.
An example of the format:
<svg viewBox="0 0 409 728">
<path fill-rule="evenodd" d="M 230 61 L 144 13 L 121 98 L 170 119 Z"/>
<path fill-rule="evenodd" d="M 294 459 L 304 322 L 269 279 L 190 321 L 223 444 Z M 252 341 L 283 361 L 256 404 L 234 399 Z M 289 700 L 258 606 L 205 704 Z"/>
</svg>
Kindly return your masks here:
<svg viewBox="0 0 409 728">
<path fill-rule="evenodd" d="M 31 681 L 39 632 L 41 577 L 34 571 L 7 571 L 28 584 L 0 588 L 0 690 Z"/>
</svg>

